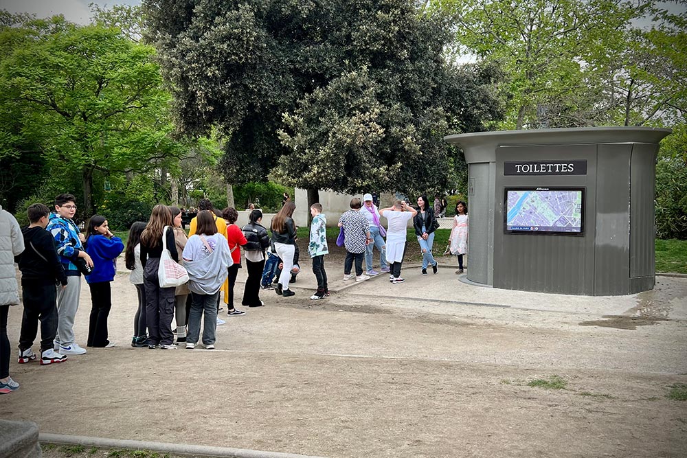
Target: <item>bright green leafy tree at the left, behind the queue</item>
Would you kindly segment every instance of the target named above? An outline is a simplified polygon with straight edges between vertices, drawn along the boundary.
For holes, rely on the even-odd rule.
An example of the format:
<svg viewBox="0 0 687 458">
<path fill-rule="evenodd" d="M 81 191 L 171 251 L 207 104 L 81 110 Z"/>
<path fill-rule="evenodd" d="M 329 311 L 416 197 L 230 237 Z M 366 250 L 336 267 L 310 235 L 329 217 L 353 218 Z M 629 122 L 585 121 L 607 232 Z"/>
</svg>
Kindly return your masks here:
<svg viewBox="0 0 687 458">
<path fill-rule="evenodd" d="M 56 16 L 2 27 L 0 156 L 35 145 L 51 174 L 80 174 L 85 214 L 94 174 L 146 172 L 179 153 L 151 47 L 119 30 Z"/>
</svg>

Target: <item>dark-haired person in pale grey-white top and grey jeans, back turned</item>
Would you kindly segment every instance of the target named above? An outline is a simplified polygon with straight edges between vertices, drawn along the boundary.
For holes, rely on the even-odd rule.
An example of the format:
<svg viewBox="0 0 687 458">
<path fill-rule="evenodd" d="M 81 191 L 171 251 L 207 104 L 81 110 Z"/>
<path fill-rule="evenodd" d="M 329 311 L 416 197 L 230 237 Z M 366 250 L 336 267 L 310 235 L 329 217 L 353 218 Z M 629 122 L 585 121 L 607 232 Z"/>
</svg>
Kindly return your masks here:
<svg viewBox="0 0 687 458">
<path fill-rule="evenodd" d="M 204 315 L 203 345 L 207 350 L 214 350 L 217 296 L 233 262 L 227 239 L 217 233 L 212 216 L 210 211 L 199 211 L 196 233 L 190 236 L 182 254 L 188 271 L 188 288 L 193 298 L 186 336 L 186 348 L 189 350 L 198 343 L 201 315 Z"/>
</svg>

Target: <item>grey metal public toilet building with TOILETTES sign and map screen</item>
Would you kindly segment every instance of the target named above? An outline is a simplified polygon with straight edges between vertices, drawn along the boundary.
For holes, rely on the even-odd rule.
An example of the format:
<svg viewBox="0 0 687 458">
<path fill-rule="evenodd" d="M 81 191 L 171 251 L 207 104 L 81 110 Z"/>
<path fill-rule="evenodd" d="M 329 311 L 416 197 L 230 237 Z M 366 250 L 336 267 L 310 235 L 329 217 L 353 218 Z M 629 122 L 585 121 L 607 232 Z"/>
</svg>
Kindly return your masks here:
<svg viewBox="0 0 687 458">
<path fill-rule="evenodd" d="M 626 295 L 655 282 L 658 144 L 639 127 L 449 135 L 468 163 L 470 282 Z"/>
</svg>

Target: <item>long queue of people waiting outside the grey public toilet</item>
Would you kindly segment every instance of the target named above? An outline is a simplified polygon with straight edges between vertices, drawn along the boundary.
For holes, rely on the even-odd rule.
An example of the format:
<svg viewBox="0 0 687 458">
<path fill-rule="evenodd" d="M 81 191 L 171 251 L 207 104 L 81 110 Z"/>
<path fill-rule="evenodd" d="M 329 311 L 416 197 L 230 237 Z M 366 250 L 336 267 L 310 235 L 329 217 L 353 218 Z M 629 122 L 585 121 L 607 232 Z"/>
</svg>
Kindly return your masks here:
<svg viewBox="0 0 687 458">
<path fill-rule="evenodd" d="M 350 210 L 339 218 L 340 244 L 346 249 L 343 279 L 361 282 L 389 273 L 390 282 L 403 283 L 401 266 L 407 247 L 407 225 L 413 220 L 414 231 L 423 253 L 422 273 L 438 262 L 432 255 L 438 221 L 426 196 L 419 196 L 418 209 L 396 201 L 378 209 L 370 194 L 350 201 Z M 227 317 L 245 314 L 234 306 L 234 286 L 245 257 L 247 280 L 241 304 L 264 306 L 260 290 L 274 289 L 282 297 L 295 295 L 289 285 L 300 273 L 295 203 L 284 196 L 284 205 L 271 221 L 271 236 L 262 226 L 262 212 L 251 210 L 249 223 L 238 227 L 238 212 L 228 207 L 214 209 L 203 199 L 187 234 L 178 207 L 156 205 L 148 222 L 135 222 L 129 231 L 126 247 L 113 235 L 104 216 L 92 216 L 85 233 L 74 222 L 76 198 L 60 194 L 54 211 L 43 204 L 28 207 L 30 225 L 20 229 L 18 223 L 0 207 L 0 393 L 19 388 L 9 376 L 10 344 L 7 336 L 8 306 L 19 304 L 14 262 L 22 273 L 23 316 L 19 336 L 18 362 L 36 360 L 32 345 L 41 327 L 41 365 L 61 363 L 67 355 L 85 354 L 76 343 L 74 319 L 79 306 L 81 277 L 91 290 L 91 313 L 86 347 L 113 347 L 107 320 L 111 309 L 111 282 L 115 277 L 116 259 L 124 251 L 130 282 L 137 290 L 138 306 L 133 319 L 133 347 L 174 350 L 178 345 L 193 349 L 200 343 L 214 349 L 216 326 L 225 323 L 218 317 L 221 292 L 227 306 Z M 324 256 L 329 253 L 326 238 L 326 215 L 322 205 L 310 208 L 312 219 L 308 254 L 312 258 L 317 290 L 312 300 L 330 295 Z M 387 227 L 381 224 L 387 218 Z M 467 252 L 467 205 L 456 205 L 451 231 L 450 251 L 458 255 L 459 273 Z M 373 249 L 380 253 L 380 271 L 372 267 Z M 170 259 L 183 266 L 188 281 L 175 286 L 161 283 L 165 262 Z M 365 271 L 363 273 L 363 259 Z M 176 264 L 172 264 L 176 265 Z M 275 277 L 275 286 L 272 279 Z M 172 329 L 172 320 L 176 326 Z M 201 335 L 201 321 L 203 333 Z M 176 341 L 174 341 L 176 334 Z"/>
</svg>

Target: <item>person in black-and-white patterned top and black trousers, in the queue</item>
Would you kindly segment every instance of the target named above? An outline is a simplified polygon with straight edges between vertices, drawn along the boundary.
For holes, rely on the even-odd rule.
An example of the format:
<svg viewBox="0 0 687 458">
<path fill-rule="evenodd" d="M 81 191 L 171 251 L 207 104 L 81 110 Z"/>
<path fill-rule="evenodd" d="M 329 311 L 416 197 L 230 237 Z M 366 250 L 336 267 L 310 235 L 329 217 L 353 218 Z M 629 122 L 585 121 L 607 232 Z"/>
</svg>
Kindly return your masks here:
<svg viewBox="0 0 687 458">
<path fill-rule="evenodd" d="M 372 242 L 370 225 L 368 218 L 365 218 L 360 212 L 362 205 L 359 198 L 352 198 L 349 206 L 350 210 L 339 218 L 339 227 L 343 227 L 343 247 L 346 248 L 343 279 L 350 280 L 353 277 L 350 275 L 350 271 L 355 261 L 355 281 L 364 282 L 370 279 L 369 275 L 363 274 L 363 256 L 368 244 Z"/>
</svg>

